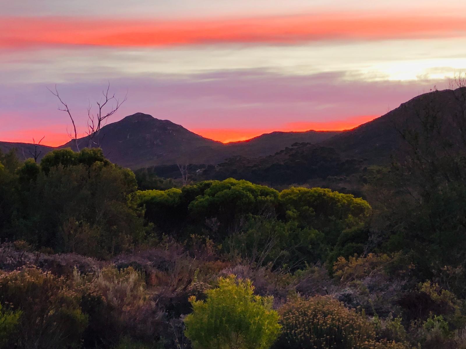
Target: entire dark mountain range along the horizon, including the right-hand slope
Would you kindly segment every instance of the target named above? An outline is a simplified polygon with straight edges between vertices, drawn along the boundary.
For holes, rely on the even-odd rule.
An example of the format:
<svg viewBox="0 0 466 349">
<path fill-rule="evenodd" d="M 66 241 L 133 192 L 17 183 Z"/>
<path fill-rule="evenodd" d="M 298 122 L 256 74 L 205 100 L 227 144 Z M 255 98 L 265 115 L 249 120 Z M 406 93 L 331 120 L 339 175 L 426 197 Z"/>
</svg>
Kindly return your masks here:
<svg viewBox="0 0 466 349">
<path fill-rule="evenodd" d="M 104 126 L 98 135 L 100 146 L 110 161 L 129 168 L 175 163 L 218 164 L 227 158 L 257 158 L 275 154 L 294 143 L 313 143 L 335 148 L 342 159 L 362 159 L 365 163 L 386 163 L 402 148 L 400 131 L 419 129 L 429 113 L 442 116 L 445 123 L 442 137 L 453 138 L 453 116 L 466 110 L 466 88 L 433 91 L 421 94 L 391 112 L 348 131 L 273 132 L 248 141 L 223 144 L 212 141 L 168 120 L 137 113 Z M 464 117 L 463 117 L 464 118 Z M 450 130 L 450 132 L 449 132 Z M 89 138 L 78 140 L 80 148 L 89 145 Z M 70 141 L 62 147 L 75 149 Z M 17 148 L 20 158 L 31 157 L 34 145 L 0 142 L 0 150 Z M 41 156 L 53 150 L 40 146 Z"/>
</svg>

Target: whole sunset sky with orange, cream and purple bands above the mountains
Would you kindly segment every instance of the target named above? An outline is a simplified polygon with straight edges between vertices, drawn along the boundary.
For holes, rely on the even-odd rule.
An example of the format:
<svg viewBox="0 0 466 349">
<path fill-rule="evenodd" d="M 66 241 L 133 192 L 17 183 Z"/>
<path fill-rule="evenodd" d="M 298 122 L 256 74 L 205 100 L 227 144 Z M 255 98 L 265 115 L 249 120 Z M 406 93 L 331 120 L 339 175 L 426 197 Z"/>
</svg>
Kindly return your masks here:
<svg viewBox="0 0 466 349">
<path fill-rule="evenodd" d="M 461 0 L 0 0 L 0 141 L 122 107 L 217 141 L 343 130 L 466 72 Z"/>
</svg>

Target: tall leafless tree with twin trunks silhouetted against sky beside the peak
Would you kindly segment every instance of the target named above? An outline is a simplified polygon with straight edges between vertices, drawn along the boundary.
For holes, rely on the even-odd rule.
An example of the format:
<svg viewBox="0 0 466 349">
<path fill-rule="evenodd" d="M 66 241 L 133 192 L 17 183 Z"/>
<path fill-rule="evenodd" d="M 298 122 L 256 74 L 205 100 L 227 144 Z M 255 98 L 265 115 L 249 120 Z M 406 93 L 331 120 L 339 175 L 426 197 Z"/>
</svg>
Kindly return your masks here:
<svg viewBox="0 0 466 349">
<path fill-rule="evenodd" d="M 58 98 L 62 107 L 58 107 L 58 110 L 64 111 L 69 115 L 71 119 L 71 123 L 73 124 L 74 134 L 69 133 L 69 137 L 75 140 L 76 150 L 79 151 L 79 144 L 78 144 L 78 135 L 76 132 L 76 125 L 73 116 L 69 110 L 68 105 L 62 100 L 58 93 L 58 89 L 55 85 L 55 92 L 52 91 L 47 87 L 47 89 Z M 123 100 L 120 101 L 118 98 L 115 97 L 115 94 L 109 94 L 110 91 L 110 82 L 107 85 L 107 89 L 102 91 L 103 99 L 100 101 L 96 101 L 98 111 L 96 114 L 91 114 L 92 105 L 89 103 L 87 108 L 88 111 L 88 120 L 87 120 L 87 131 L 86 134 L 88 135 L 88 148 L 92 147 L 100 147 L 101 141 L 103 139 L 99 138 L 99 134 L 103 126 L 107 124 L 108 118 L 115 114 L 117 110 L 121 107 L 121 105 L 127 100 L 127 94 L 124 96 Z M 112 104 L 110 111 L 104 112 L 104 109 L 107 106 L 110 106 L 110 102 L 116 102 L 116 105 Z"/>
</svg>

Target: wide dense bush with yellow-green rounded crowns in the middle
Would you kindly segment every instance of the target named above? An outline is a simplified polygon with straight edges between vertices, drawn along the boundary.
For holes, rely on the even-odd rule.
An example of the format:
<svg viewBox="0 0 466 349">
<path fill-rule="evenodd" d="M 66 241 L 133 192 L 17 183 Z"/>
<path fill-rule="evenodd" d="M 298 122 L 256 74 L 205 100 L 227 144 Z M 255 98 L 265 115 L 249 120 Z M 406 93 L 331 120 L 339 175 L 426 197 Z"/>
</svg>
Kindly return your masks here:
<svg viewBox="0 0 466 349">
<path fill-rule="evenodd" d="M 370 205 L 353 195 L 322 188 L 279 193 L 232 178 L 138 191 L 133 203 L 179 241 L 202 232 L 230 254 L 294 268 L 325 259 L 334 248 L 346 246 L 350 255 L 361 251 L 370 214 Z"/>
</svg>

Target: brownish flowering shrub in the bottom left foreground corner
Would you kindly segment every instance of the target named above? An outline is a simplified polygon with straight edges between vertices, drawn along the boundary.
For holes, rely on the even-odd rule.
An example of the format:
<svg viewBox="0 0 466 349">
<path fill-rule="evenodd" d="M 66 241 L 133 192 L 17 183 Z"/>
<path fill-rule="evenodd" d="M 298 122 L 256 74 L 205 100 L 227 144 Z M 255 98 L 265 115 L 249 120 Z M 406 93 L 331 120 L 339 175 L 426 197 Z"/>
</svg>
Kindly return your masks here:
<svg viewBox="0 0 466 349">
<path fill-rule="evenodd" d="M 16 348 L 78 347 L 88 323 L 78 300 L 64 278 L 37 268 L 0 275 L 0 302 L 12 311 L 21 311 Z"/>
</svg>

